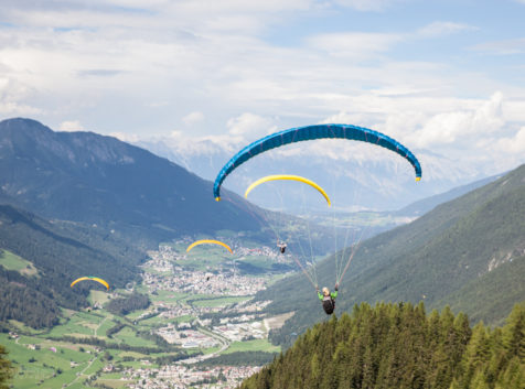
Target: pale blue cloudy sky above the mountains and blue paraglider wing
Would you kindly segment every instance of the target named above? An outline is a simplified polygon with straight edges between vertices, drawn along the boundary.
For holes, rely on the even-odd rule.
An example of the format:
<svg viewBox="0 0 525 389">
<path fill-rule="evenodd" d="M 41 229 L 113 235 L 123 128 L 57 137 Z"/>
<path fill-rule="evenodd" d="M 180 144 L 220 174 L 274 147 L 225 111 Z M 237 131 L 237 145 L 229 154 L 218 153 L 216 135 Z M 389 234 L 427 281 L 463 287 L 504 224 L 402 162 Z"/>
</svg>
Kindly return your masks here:
<svg viewBox="0 0 525 389">
<path fill-rule="evenodd" d="M 3 0 L 0 119 L 181 152 L 352 123 L 495 174 L 525 163 L 524 20 L 525 0 Z"/>
</svg>

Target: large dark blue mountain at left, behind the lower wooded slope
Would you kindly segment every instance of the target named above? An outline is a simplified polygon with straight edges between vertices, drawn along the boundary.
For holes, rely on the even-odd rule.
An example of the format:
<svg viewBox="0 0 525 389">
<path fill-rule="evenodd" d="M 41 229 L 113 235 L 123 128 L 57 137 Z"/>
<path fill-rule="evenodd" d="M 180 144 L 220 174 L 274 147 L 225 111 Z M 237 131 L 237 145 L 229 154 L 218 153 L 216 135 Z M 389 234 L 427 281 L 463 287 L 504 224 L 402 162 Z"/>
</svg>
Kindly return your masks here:
<svg viewBox="0 0 525 389">
<path fill-rule="evenodd" d="M 0 202 L 156 242 L 219 229 L 258 230 L 247 203 L 215 202 L 212 183 L 149 151 L 93 132 L 0 122 Z"/>
</svg>

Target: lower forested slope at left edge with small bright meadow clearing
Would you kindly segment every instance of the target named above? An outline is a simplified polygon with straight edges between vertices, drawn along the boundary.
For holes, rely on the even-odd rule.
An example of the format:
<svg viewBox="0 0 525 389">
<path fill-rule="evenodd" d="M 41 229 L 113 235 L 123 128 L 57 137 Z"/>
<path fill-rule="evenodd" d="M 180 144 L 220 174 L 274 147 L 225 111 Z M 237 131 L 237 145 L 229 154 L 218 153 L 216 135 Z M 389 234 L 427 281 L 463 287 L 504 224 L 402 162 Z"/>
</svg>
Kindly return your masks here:
<svg viewBox="0 0 525 389">
<path fill-rule="evenodd" d="M 105 233 L 0 205 L 0 323 L 56 324 L 58 307 L 87 305 L 89 289 L 78 284 L 73 290 L 73 280 L 98 275 L 111 288 L 124 288 L 139 279 L 142 259 L 142 252 Z"/>
</svg>

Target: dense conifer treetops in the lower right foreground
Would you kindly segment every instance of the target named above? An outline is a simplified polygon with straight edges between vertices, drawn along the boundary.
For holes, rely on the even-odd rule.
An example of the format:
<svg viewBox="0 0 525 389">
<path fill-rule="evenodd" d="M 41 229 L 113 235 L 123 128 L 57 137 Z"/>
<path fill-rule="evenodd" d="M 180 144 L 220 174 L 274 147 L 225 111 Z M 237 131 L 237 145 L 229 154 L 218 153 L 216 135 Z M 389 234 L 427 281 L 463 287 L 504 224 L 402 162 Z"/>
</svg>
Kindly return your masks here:
<svg viewBox="0 0 525 389">
<path fill-rule="evenodd" d="M 265 388 L 525 387 L 525 303 L 506 325 L 471 328 L 463 313 L 422 303 L 366 303 L 300 336 L 286 354 L 245 380 Z"/>
</svg>

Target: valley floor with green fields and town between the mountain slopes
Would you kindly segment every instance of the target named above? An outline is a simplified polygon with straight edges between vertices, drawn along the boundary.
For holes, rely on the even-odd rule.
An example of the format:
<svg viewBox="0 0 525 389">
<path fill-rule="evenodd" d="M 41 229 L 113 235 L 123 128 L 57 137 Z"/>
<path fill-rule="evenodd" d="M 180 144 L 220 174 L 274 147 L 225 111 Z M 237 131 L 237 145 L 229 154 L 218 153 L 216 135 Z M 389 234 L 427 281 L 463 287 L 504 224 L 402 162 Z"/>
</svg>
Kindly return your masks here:
<svg viewBox="0 0 525 389">
<path fill-rule="evenodd" d="M 268 332 L 289 315 L 267 317 L 268 302 L 254 294 L 282 273 L 272 263 L 291 260 L 269 248 L 215 248 L 185 255 L 185 241 L 149 252 L 142 282 L 106 293 L 92 290 L 92 307 L 64 311 L 61 325 L 0 334 L 17 367 L 15 388 L 235 388 L 271 360 L 280 347 Z M 257 269 L 243 272 L 243 266 Z M 147 294 L 148 309 L 116 315 L 104 306 Z"/>
</svg>

